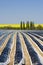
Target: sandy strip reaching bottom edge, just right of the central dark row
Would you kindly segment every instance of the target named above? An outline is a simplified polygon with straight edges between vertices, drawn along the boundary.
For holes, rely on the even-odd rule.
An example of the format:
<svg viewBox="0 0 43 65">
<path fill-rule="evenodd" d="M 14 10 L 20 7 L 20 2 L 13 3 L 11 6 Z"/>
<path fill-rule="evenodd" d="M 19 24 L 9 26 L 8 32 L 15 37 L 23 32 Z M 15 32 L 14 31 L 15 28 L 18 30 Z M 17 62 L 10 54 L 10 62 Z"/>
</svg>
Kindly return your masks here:
<svg viewBox="0 0 43 65">
<path fill-rule="evenodd" d="M 32 65 L 30 55 L 29 55 L 27 47 L 25 45 L 25 41 L 23 39 L 23 36 L 20 33 L 19 33 L 19 37 L 20 37 L 21 45 L 23 47 L 23 52 L 24 52 L 24 57 L 25 57 L 25 65 Z"/>
</svg>

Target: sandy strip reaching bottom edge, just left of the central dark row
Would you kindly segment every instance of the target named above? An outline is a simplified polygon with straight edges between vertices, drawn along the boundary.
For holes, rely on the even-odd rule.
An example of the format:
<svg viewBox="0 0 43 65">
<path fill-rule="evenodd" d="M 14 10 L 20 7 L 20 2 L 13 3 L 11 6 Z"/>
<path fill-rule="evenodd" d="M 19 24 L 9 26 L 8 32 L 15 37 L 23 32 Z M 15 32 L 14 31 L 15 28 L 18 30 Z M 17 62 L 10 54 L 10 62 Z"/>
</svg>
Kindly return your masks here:
<svg viewBox="0 0 43 65">
<path fill-rule="evenodd" d="M 16 52 L 16 34 L 14 34 L 13 48 L 12 48 L 11 53 L 10 53 L 10 63 L 8 65 L 14 65 L 15 52 Z"/>
</svg>

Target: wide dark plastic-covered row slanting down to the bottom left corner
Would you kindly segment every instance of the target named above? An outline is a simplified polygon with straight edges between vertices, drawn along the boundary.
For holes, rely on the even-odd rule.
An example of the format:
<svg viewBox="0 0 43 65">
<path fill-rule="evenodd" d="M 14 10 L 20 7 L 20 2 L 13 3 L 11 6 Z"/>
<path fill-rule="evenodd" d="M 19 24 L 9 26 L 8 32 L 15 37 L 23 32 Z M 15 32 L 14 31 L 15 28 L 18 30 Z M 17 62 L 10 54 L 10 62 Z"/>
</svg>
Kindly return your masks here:
<svg viewBox="0 0 43 65">
<path fill-rule="evenodd" d="M 0 63 L 6 62 L 8 57 L 9 57 L 10 50 L 11 50 L 11 44 L 12 44 L 12 37 L 13 37 L 13 35 L 11 35 L 10 39 L 8 40 L 6 47 L 4 48 L 2 54 L 0 55 Z"/>
</svg>

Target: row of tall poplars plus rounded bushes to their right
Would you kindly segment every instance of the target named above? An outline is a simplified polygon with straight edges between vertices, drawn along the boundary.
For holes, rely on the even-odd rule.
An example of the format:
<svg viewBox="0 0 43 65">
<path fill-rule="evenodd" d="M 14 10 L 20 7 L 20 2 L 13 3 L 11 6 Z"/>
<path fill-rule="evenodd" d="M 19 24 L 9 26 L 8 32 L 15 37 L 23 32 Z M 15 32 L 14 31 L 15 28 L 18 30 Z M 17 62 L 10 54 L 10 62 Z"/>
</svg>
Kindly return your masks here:
<svg viewBox="0 0 43 65">
<path fill-rule="evenodd" d="M 43 27 L 39 24 L 38 26 L 35 26 L 35 23 L 32 21 L 27 21 L 26 23 L 24 21 L 20 22 L 20 29 L 21 30 L 43 30 Z"/>
</svg>

